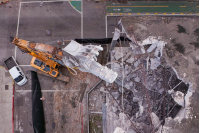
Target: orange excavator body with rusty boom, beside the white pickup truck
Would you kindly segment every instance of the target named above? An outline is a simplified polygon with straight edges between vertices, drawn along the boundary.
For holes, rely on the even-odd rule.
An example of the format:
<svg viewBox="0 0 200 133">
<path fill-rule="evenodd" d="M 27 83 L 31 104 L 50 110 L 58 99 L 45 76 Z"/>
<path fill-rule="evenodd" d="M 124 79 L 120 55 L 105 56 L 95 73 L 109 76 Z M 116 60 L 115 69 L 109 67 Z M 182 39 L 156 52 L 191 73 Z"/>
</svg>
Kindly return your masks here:
<svg viewBox="0 0 200 133">
<path fill-rule="evenodd" d="M 33 56 L 31 66 L 39 69 L 53 77 L 58 76 L 58 69 L 64 66 L 61 59 L 62 50 L 43 43 L 31 43 L 15 37 L 12 41 L 22 52 Z"/>
</svg>

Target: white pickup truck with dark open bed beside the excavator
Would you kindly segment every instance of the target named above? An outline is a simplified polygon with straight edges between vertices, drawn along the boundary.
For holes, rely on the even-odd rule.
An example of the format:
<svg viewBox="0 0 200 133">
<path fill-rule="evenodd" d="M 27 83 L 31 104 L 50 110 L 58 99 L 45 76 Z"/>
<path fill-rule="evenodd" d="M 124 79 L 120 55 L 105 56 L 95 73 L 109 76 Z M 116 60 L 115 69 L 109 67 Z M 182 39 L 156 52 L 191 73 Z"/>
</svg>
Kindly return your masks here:
<svg viewBox="0 0 200 133">
<path fill-rule="evenodd" d="M 19 85 L 24 85 L 28 80 L 13 56 L 4 61 L 11 77 Z"/>
</svg>

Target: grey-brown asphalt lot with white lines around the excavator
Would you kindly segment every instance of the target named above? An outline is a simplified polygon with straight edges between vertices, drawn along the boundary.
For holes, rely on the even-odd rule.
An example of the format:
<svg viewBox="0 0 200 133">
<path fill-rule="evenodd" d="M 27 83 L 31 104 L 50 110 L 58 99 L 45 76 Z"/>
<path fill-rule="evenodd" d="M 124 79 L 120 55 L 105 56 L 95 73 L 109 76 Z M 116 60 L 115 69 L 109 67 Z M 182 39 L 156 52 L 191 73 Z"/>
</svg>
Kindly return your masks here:
<svg viewBox="0 0 200 133">
<path fill-rule="evenodd" d="M 30 2 L 30 1 L 26 1 Z M 73 4 L 73 6 L 72 6 Z M 22 53 L 10 42 L 10 37 L 18 35 L 18 38 L 29 40 L 31 42 L 49 43 L 56 40 L 70 40 L 74 38 L 105 38 L 105 4 L 95 2 L 83 2 L 83 14 L 80 13 L 80 3 L 65 2 L 40 2 L 21 3 L 20 1 L 10 1 L 0 5 L 0 65 L 4 66 L 3 61 L 14 56 L 28 78 L 28 83 L 22 87 L 15 84 L 14 95 L 14 132 L 15 133 L 33 133 L 32 127 L 32 105 L 30 88 L 30 70 L 35 70 L 30 66 L 32 56 Z M 75 7 L 74 7 L 75 6 Z M 76 8 L 76 9 L 75 9 Z M 20 12 L 19 12 L 20 10 Z M 83 23 L 81 22 L 83 17 Z M 19 18 L 19 25 L 18 25 Z M 81 25 L 83 24 L 83 27 Z M 81 29 L 83 29 L 81 31 Z M 46 30 L 51 30 L 51 36 L 46 35 Z M 53 46 L 59 46 L 57 43 L 51 43 Z M 62 45 L 62 44 L 60 44 Z M 63 47 L 59 46 L 59 47 Z M 87 131 L 86 125 L 83 129 L 80 122 L 75 123 L 73 112 L 77 108 L 71 109 L 64 101 L 71 98 L 69 91 L 77 92 L 81 80 L 73 79 L 70 81 L 70 87 L 65 87 L 65 83 L 55 81 L 52 78 L 38 75 L 42 88 L 44 100 L 44 111 L 46 121 L 46 132 L 81 132 Z M 77 78 L 77 77 L 76 77 Z M 85 78 L 85 77 L 84 77 Z M 90 80 L 95 84 L 95 80 Z M 89 81 L 89 82 L 90 82 Z M 74 84 L 76 84 L 74 86 Z M 91 87 L 91 86 L 89 86 Z M 66 90 L 68 88 L 68 90 Z M 65 96 L 67 95 L 67 96 Z M 72 95 L 73 96 L 73 95 Z M 7 97 L 10 98 L 9 96 Z M 66 105 L 67 104 L 67 105 Z M 82 107 L 85 110 L 85 105 Z M 84 111 L 83 111 L 84 113 Z M 71 119 L 70 119 L 71 118 Z M 84 118 L 83 118 L 84 119 Z M 82 124 L 86 124 L 83 120 Z M 75 123 L 75 125 L 74 125 Z M 11 127 L 10 127 L 11 128 Z"/>
</svg>

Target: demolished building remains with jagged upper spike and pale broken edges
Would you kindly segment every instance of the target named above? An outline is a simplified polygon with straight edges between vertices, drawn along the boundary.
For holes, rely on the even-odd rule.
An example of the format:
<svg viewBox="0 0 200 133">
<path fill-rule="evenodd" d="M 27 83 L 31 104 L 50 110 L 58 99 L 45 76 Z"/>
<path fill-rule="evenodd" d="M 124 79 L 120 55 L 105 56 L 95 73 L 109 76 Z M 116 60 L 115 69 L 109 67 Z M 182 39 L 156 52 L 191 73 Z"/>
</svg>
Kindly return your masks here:
<svg viewBox="0 0 200 133">
<path fill-rule="evenodd" d="M 121 132 L 131 133 L 174 131 L 172 123 L 179 125 L 183 119 L 192 119 L 194 89 L 191 82 L 186 82 L 187 72 L 180 77 L 169 63 L 164 50 L 168 42 L 162 36 L 136 41 L 134 33 L 126 31 L 130 27 L 126 23 L 124 28 L 122 22 L 123 19 L 114 32 L 109 63 L 118 77 L 115 84 L 105 87 L 109 92 L 108 126 L 116 128 L 116 132 L 117 127 L 123 129 Z M 121 35 L 131 40 L 129 47 L 123 47 L 127 42 L 117 43 Z M 115 47 L 116 44 L 120 47 Z"/>
</svg>

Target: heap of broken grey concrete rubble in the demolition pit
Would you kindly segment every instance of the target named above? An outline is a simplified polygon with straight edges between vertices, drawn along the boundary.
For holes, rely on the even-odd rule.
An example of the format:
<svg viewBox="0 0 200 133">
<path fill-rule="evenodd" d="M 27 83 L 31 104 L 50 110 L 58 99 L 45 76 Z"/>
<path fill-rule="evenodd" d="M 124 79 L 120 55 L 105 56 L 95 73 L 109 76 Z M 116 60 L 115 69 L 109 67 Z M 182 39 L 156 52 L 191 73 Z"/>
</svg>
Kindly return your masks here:
<svg viewBox="0 0 200 133">
<path fill-rule="evenodd" d="M 166 43 L 161 38 L 149 37 L 139 44 L 143 54 L 135 54 L 132 47 L 115 47 L 111 53 L 111 68 L 118 78 L 114 86 L 107 87 L 110 101 L 115 101 L 109 105 L 117 116 L 124 112 L 152 131 L 184 107 L 189 85 L 166 63 L 162 56 Z"/>
</svg>

